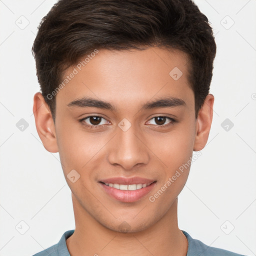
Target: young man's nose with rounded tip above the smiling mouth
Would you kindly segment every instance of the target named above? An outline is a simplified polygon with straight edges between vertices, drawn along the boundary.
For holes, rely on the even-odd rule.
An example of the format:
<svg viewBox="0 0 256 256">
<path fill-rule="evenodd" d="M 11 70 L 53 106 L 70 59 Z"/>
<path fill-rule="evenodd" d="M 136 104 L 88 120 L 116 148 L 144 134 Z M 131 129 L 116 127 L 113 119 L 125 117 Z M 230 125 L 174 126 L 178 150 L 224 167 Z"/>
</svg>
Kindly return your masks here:
<svg viewBox="0 0 256 256">
<path fill-rule="evenodd" d="M 135 130 L 135 125 L 123 131 L 116 128 L 117 134 L 111 139 L 107 154 L 109 163 L 120 165 L 125 170 L 132 169 L 135 165 L 147 164 L 149 149 L 143 136 Z"/>
</svg>

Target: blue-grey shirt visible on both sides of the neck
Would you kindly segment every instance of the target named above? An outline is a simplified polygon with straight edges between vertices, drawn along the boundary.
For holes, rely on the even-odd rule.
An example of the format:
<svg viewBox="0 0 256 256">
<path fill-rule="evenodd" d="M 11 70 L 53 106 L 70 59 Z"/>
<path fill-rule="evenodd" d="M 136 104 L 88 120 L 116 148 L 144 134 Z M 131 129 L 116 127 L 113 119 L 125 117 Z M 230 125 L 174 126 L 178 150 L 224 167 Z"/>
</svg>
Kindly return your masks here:
<svg viewBox="0 0 256 256">
<path fill-rule="evenodd" d="M 228 250 L 207 246 L 201 241 L 193 239 L 187 232 L 183 230 L 181 231 L 188 241 L 186 256 L 244 256 Z M 73 232 L 74 229 L 65 231 L 58 243 L 34 254 L 33 256 L 70 256 L 66 247 L 66 239 L 73 234 Z"/>
</svg>

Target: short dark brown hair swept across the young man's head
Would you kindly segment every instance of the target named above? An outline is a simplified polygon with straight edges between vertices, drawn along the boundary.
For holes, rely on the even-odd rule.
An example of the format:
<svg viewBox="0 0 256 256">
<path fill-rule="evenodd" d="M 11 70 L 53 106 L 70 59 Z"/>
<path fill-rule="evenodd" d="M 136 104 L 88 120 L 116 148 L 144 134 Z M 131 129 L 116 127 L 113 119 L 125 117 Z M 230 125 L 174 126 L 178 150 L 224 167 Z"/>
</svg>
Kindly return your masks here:
<svg viewBox="0 0 256 256">
<path fill-rule="evenodd" d="M 189 56 L 195 117 L 212 77 L 216 53 L 207 17 L 192 0 L 59 0 L 38 26 L 32 53 L 45 102 L 55 119 L 54 91 L 64 70 L 97 49 L 163 46 Z"/>
</svg>

